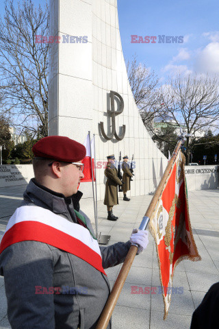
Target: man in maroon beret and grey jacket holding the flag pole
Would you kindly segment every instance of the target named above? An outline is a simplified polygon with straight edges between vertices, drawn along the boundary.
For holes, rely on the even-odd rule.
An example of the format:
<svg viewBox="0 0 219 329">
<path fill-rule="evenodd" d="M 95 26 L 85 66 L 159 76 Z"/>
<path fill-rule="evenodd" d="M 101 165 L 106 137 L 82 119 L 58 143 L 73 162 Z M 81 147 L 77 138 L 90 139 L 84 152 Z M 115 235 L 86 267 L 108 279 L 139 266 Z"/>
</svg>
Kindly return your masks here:
<svg viewBox="0 0 219 329">
<path fill-rule="evenodd" d="M 123 263 L 131 243 L 146 248 L 146 231 L 127 243 L 99 247 L 79 208 L 86 149 L 63 136 L 33 147 L 34 175 L 0 245 L 12 329 L 92 329 L 110 284 L 104 269 Z M 111 328 L 109 324 L 108 328 Z"/>
</svg>

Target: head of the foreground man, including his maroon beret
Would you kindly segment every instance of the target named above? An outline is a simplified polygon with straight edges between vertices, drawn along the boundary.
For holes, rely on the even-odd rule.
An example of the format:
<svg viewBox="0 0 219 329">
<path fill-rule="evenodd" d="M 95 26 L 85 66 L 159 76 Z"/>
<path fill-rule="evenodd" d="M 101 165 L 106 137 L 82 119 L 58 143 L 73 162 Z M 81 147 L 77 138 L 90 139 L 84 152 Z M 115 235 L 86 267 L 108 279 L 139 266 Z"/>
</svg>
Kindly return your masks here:
<svg viewBox="0 0 219 329">
<path fill-rule="evenodd" d="M 81 160 L 86 148 L 64 136 L 49 136 L 38 141 L 34 147 L 34 175 L 38 183 L 52 191 L 71 197 L 83 178 Z"/>
</svg>

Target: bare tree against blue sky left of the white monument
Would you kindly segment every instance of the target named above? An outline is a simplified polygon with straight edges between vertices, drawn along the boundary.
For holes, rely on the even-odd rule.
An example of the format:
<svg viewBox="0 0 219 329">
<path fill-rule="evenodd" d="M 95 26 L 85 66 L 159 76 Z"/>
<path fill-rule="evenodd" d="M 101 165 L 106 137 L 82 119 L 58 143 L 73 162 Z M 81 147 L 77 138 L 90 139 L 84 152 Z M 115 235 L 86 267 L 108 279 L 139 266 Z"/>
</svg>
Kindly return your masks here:
<svg viewBox="0 0 219 329">
<path fill-rule="evenodd" d="M 34 7 L 32 0 L 14 4 L 5 1 L 0 19 L 0 76 L 5 110 L 11 123 L 22 129 L 48 132 L 48 43 L 36 36 L 48 36 L 48 5 Z M 35 126 L 33 125 L 35 123 Z"/>
</svg>

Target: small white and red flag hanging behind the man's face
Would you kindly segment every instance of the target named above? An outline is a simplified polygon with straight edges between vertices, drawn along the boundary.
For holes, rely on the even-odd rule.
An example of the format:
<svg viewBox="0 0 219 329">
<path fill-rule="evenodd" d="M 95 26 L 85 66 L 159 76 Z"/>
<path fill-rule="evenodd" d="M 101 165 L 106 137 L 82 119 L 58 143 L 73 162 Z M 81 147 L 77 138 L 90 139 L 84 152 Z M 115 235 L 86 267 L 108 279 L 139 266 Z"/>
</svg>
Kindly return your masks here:
<svg viewBox="0 0 219 329">
<path fill-rule="evenodd" d="M 91 144 L 91 149 L 90 149 L 90 144 Z M 90 141 L 90 135 L 88 134 L 83 145 L 86 147 L 86 157 L 82 160 L 84 178 L 81 179 L 81 183 L 92 182 L 92 168 L 93 168 L 94 181 L 96 179 L 94 175 L 94 138 L 92 138 L 92 140 Z M 92 160 L 92 167 L 91 167 L 91 160 Z"/>
</svg>

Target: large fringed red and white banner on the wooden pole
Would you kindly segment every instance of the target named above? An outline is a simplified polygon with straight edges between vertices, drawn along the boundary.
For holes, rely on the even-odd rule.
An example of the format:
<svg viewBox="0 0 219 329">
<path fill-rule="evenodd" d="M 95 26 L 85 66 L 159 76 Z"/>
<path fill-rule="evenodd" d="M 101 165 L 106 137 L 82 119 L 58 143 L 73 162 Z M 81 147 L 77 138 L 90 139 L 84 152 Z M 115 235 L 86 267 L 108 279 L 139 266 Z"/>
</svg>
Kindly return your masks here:
<svg viewBox="0 0 219 329">
<path fill-rule="evenodd" d="M 180 150 L 149 222 L 157 248 L 164 319 L 170 307 L 175 267 L 183 259 L 201 260 L 190 224 L 184 167 L 185 156 Z"/>
</svg>

